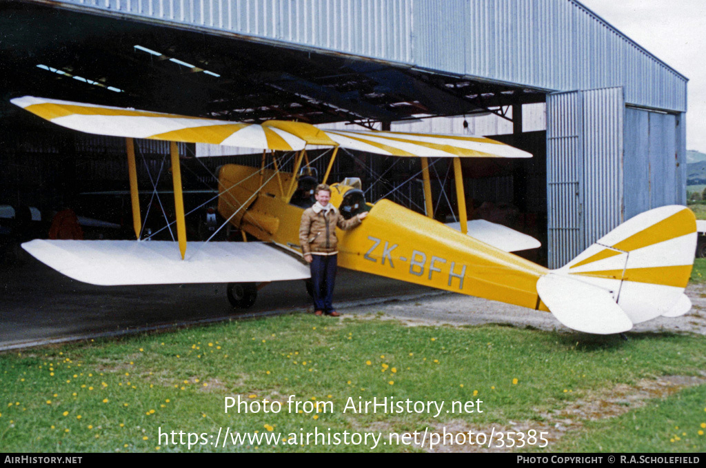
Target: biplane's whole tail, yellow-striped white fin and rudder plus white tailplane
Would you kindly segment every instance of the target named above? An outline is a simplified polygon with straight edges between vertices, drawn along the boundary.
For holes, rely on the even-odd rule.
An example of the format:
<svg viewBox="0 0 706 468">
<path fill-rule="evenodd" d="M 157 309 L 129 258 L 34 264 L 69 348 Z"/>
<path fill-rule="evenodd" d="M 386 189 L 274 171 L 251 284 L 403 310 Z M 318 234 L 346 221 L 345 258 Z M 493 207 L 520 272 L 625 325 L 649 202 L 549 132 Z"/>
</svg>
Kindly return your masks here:
<svg viewBox="0 0 706 468">
<path fill-rule="evenodd" d="M 590 333 L 623 332 L 645 320 L 682 315 L 690 308 L 683 293 L 696 238 L 691 210 L 654 208 L 540 278 L 537 292 L 561 323 Z M 607 297 L 615 306 L 606 305 Z"/>
</svg>

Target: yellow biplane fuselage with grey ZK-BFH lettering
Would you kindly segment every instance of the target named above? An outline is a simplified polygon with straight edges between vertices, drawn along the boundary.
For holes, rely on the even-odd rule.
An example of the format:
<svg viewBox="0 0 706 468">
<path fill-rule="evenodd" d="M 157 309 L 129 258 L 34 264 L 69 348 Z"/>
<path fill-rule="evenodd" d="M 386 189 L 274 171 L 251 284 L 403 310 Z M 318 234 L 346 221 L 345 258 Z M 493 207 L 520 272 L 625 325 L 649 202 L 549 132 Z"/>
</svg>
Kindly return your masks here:
<svg viewBox="0 0 706 468">
<path fill-rule="evenodd" d="M 258 193 L 261 179 L 264 185 Z M 304 208 L 289 203 L 292 174 L 268 169 L 261 174 L 256 167 L 227 164 L 219 180 L 218 210 L 223 217 L 261 241 L 301 254 L 299 223 Z M 331 188 L 331 203 L 338 208 L 351 187 Z M 361 226 L 345 232 L 337 229 L 341 267 L 547 310 L 536 287 L 539 277 L 549 272 L 541 265 L 389 200 L 367 209 Z"/>
</svg>

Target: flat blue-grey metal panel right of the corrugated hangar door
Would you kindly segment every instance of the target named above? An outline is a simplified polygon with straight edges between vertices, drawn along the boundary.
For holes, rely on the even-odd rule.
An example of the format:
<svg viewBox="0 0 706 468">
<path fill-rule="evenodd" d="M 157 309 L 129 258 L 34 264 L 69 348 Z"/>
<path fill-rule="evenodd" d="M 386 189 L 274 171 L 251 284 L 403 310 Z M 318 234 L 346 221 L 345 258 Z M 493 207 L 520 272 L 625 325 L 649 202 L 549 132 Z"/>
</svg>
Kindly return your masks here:
<svg viewBox="0 0 706 468">
<path fill-rule="evenodd" d="M 626 109 L 625 218 L 659 206 L 686 204 L 683 114 Z"/>
</svg>

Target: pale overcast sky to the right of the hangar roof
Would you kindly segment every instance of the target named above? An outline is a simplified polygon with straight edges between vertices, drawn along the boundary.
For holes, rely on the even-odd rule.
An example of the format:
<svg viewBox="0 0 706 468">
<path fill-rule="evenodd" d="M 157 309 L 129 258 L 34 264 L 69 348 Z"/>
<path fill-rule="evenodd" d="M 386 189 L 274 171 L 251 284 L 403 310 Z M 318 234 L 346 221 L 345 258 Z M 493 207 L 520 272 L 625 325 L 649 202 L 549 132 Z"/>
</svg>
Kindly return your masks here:
<svg viewBox="0 0 706 468">
<path fill-rule="evenodd" d="M 689 78 L 686 149 L 706 153 L 706 0 L 578 0 Z"/>
</svg>

